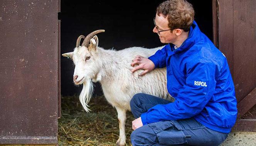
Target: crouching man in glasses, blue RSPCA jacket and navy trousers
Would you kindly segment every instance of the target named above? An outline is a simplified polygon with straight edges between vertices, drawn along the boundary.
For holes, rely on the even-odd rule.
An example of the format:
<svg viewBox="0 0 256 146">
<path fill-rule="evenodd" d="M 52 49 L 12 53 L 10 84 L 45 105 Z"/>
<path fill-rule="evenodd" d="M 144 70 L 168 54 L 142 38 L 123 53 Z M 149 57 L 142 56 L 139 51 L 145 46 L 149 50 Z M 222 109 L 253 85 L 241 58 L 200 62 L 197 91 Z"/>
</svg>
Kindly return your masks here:
<svg viewBox="0 0 256 146">
<path fill-rule="evenodd" d="M 236 122 L 234 84 L 226 57 L 194 21 L 185 0 L 168 0 L 157 7 L 155 27 L 162 50 L 149 58 L 136 56 L 132 72 L 167 67 L 167 89 L 175 101 L 138 93 L 130 106 L 133 146 L 217 146 Z M 165 76 L 163 76 L 165 78 Z"/>
</svg>

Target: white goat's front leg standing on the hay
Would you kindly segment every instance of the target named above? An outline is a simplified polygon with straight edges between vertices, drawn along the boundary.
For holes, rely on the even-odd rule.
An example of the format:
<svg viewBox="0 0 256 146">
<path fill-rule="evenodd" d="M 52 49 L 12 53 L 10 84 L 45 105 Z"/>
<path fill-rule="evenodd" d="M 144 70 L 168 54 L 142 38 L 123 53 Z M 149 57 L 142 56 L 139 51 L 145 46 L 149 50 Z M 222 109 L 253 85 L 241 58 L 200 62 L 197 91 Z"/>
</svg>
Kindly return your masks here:
<svg viewBox="0 0 256 146">
<path fill-rule="evenodd" d="M 118 122 L 119 122 L 119 138 L 116 141 L 117 146 L 125 146 L 125 121 L 126 121 L 126 109 L 116 107 Z"/>
</svg>

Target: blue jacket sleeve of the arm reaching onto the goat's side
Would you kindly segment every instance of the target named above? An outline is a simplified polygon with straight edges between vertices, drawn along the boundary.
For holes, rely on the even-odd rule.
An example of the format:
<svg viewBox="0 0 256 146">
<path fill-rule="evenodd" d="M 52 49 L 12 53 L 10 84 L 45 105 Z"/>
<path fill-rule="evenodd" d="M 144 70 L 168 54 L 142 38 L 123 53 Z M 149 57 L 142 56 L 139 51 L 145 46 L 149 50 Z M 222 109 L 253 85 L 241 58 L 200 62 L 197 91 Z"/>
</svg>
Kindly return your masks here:
<svg viewBox="0 0 256 146">
<path fill-rule="evenodd" d="M 165 45 L 161 50 L 158 50 L 154 55 L 148 57 L 155 64 L 155 68 L 166 67 L 168 45 Z"/>
</svg>

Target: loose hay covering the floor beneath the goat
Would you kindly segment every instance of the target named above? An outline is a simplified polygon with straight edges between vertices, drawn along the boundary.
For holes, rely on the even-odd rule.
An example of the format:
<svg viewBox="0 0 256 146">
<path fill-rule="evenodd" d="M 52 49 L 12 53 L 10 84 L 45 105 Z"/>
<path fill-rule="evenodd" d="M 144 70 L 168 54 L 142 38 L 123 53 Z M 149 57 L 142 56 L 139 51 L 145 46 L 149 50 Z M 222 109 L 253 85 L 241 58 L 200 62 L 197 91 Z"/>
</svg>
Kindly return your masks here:
<svg viewBox="0 0 256 146">
<path fill-rule="evenodd" d="M 61 118 L 58 120 L 59 146 L 115 146 L 119 136 L 117 112 L 104 96 L 91 99 L 90 113 L 80 104 L 79 96 L 61 97 Z M 133 115 L 127 112 L 126 146 L 131 146 Z"/>
</svg>

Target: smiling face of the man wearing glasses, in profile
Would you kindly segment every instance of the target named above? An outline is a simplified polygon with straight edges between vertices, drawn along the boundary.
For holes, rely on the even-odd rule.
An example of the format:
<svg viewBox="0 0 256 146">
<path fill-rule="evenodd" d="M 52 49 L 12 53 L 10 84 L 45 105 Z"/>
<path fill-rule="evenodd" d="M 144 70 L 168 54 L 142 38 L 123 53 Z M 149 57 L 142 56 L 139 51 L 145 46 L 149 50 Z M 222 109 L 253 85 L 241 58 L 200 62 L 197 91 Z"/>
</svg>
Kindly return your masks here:
<svg viewBox="0 0 256 146">
<path fill-rule="evenodd" d="M 177 36 L 175 35 L 174 31 L 171 32 L 171 30 L 169 30 L 170 28 L 168 27 L 167 17 L 166 18 L 163 17 L 161 13 L 160 13 L 160 16 L 156 14 L 155 25 L 156 26 L 153 29 L 154 33 L 158 33 L 158 31 L 162 31 L 162 30 L 168 30 L 168 31 L 160 32 L 158 34 L 160 41 L 162 43 L 173 43 L 176 41 Z"/>
</svg>

